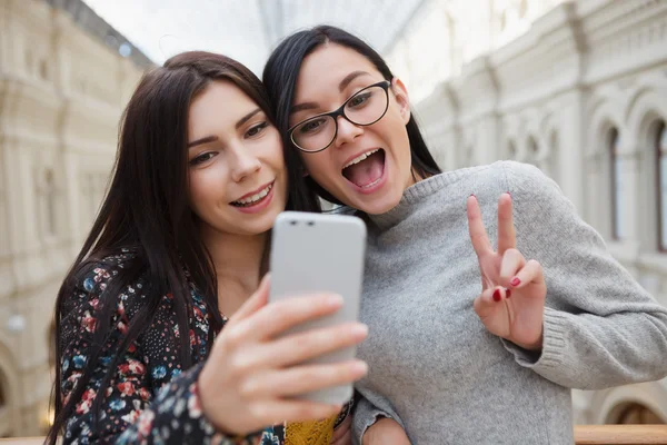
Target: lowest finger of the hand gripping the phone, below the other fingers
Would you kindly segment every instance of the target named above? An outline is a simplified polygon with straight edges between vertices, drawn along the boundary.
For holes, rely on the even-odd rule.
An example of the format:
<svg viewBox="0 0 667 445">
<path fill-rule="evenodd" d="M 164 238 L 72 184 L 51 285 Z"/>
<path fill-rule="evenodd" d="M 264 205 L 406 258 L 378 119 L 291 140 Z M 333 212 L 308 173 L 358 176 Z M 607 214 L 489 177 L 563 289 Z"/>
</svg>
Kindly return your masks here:
<svg viewBox="0 0 667 445">
<path fill-rule="evenodd" d="M 295 399 L 261 399 L 250 409 L 259 423 L 275 425 L 282 422 L 306 422 L 328 418 L 340 412 L 340 405 Z M 280 419 L 277 422 L 277 419 Z"/>
</svg>

